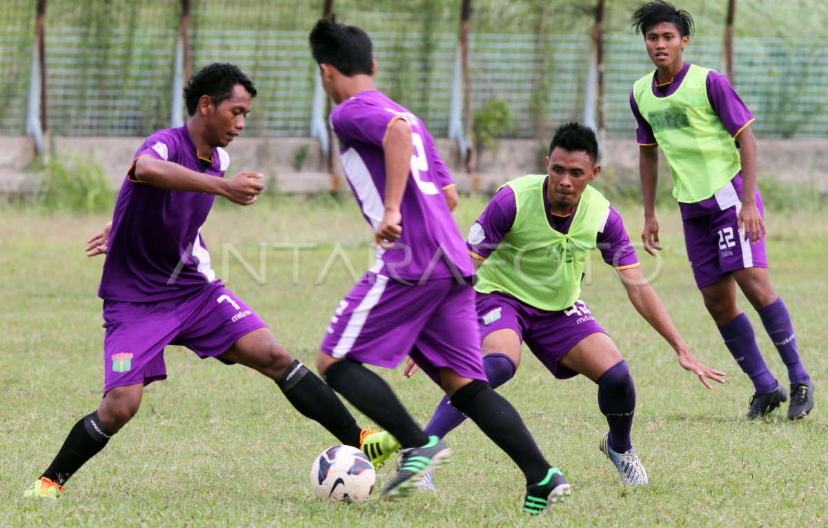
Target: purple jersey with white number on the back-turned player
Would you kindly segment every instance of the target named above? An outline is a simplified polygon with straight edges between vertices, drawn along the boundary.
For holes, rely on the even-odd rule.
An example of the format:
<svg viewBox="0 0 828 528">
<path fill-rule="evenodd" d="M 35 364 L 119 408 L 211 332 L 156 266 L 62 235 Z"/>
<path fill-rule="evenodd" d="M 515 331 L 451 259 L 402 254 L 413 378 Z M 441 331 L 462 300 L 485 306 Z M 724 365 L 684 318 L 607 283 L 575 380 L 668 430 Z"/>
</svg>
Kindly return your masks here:
<svg viewBox="0 0 828 528">
<path fill-rule="evenodd" d="M 377 248 L 371 267 L 380 275 L 402 281 L 471 276 L 463 236 L 445 205 L 443 187 L 448 170 L 425 125 L 377 90 L 349 98 L 330 114 L 341 142 L 342 168 L 363 216 L 376 230 L 385 213 L 385 138 L 393 122 L 412 127 L 411 172 L 402 198 L 402 235 L 394 247 Z"/>
</svg>

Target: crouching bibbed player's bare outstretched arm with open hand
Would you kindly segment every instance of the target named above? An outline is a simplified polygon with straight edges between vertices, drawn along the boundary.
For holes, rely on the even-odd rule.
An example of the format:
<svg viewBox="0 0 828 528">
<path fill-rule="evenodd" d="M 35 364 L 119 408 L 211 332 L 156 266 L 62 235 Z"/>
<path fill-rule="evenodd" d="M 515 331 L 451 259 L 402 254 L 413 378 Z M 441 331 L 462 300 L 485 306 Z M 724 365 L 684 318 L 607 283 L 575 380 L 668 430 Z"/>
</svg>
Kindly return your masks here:
<svg viewBox="0 0 828 528">
<path fill-rule="evenodd" d="M 641 274 L 640 267 L 629 268 L 626 270 L 618 270 L 619 278 L 623 286 L 627 289 L 627 296 L 635 310 L 647 321 L 647 323 L 655 329 L 658 334 L 661 334 L 667 343 L 678 355 L 678 362 L 682 368 L 689 370 L 699 377 L 699 381 L 708 389 L 712 388 L 707 379 L 715 382 L 724 383 L 721 378 L 724 372 L 716 370 L 715 368 L 705 367 L 705 365 L 696 359 L 690 348 L 684 342 L 684 339 L 678 334 L 676 327 L 672 324 L 670 315 L 667 314 L 662 301 L 658 298 L 656 291 L 647 282 Z"/>
</svg>

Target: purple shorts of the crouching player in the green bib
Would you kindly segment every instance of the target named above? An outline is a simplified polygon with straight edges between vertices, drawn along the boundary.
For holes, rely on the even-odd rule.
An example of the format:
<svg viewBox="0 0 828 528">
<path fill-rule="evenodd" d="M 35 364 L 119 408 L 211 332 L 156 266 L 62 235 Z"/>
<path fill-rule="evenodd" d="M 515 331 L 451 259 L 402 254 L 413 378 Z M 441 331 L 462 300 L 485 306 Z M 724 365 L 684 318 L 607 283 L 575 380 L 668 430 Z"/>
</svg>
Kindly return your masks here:
<svg viewBox="0 0 828 528">
<path fill-rule="evenodd" d="M 578 375 L 560 362 L 581 339 L 599 332 L 606 334 L 583 300 L 566 310 L 548 312 L 498 291 L 478 293 L 477 314 L 481 340 L 495 330 L 514 330 L 558 379 Z"/>
</svg>

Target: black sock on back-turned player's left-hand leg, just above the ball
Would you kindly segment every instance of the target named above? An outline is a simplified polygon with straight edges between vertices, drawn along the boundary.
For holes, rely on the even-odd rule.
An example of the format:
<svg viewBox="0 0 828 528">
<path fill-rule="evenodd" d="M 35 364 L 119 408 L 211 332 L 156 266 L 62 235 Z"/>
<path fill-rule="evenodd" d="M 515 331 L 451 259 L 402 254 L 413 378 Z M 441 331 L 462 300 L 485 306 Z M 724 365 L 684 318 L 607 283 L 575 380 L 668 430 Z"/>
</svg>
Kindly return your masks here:
<svg viewBox="0 0 828 528">
<path fill-rule="evenodd" d="M 388 383 L 375 372 L 358 362 L 342 359 L 328 367 L 325 381 L 351 405 L 391 433 L 403 448 L 428 443 L 428 436 L 408 415 Z"/>
</svg>

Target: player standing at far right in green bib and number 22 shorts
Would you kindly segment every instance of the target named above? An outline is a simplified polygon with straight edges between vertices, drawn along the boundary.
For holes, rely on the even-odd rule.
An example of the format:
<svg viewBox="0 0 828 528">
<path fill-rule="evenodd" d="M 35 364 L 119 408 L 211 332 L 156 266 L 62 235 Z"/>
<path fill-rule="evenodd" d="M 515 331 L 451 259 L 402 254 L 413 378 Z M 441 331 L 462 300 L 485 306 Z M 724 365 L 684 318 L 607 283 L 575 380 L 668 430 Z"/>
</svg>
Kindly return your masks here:
<svg viewBox="0 0 828 528">
<path fill-rule="evenodd" d="M 640 5 L 631 22 L 656 65 L 630 93 L 638 122 L 644 248 L 650 253 L 662 249 L 655 214 L 661 146 L 696 286 L 724 344 L 753 382 L 748 419 L 768 415 L 787 401 L 787 392 L 768 370 L 753 326 L 736 304 L 737 285 L 787 366 L 787 417 L 804 418 L 814 406 L 814 384 L 802 366 L 791 315 L 768 276 L 753 115 L 724 75 L 682 58 L 693 30 L 690 13 L 655 0 Z"/>
</svg>

